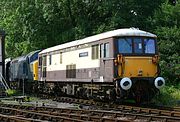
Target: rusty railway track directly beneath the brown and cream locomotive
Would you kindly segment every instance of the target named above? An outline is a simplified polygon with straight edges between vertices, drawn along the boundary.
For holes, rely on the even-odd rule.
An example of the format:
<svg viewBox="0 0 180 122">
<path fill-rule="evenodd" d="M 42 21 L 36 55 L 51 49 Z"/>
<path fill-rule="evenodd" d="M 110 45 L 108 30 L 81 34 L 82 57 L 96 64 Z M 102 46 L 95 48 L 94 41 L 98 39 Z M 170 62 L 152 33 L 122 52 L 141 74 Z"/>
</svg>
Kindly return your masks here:
<svg viewBox="0 0 180 122">
<path fill-rule="evenodd" d="M 137 104 L 127 104 L 127 103 L 112 103 L 108 101 L 95 101 L 93 99 L 79 99 L 79 98 L 74 98 L 74 97 L 54 97 L 54 96 L 49 96 L 49 95 L 43 95 L 40 96 L 42 99 L 52 99 L 53 101 L 57 102 L 65 102 L 65 103 L 75 103 L 75 104 L 82 104 L 82 105 L 95 105 L 100 109 L 105 109 L 105 110 L 119 110 L 119 109 L 131 109 L 136 108 L 136 109 L 160 109 L 160 110 L 168 110 L 168 111 L 176 111 L 180 112 L 180 107 L 168 107 L 168 106 L 159 106 L 155 104 L 144 104 L 140 105 L 140 107 L 137 106 Z"/>
</svg>

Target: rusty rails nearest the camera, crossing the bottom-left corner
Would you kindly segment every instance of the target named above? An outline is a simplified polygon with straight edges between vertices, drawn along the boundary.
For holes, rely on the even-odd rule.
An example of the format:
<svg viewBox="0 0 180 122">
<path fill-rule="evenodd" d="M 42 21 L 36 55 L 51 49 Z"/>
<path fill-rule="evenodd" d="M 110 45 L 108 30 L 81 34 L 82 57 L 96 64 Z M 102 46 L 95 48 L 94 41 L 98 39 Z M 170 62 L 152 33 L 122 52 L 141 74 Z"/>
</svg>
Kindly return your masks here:
<svg viewBox="0 0 180 122">
<path fill-rule="evenodd" d="M 50 114 L 44 114 L 35 111 L 27 111 L 9 107 L 0 107 L 0 118 L 5 119 L 5 121 L 14 120 L 14 121 L 73 121 L 73 122 L 83 122 L 79 119 L 73 119 L 63 116 L 55 116 Z M 20 117 L 19 117 L 20 116 Z"/>
</svg>

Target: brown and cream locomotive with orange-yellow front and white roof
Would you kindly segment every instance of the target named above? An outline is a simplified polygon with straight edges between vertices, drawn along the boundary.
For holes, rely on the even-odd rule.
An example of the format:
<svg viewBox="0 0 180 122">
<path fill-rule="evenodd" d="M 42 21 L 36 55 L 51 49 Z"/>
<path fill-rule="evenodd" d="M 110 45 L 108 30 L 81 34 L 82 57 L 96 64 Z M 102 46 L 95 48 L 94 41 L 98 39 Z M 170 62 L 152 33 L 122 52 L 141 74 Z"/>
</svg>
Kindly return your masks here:
<svg viewBox="0 0 180 122">
<path fill-rule="evenodd" d="M 40 92 L 143 102 L 165 85 L 159 76 L 157 36 L 135 28 L 108 31 L 37 54 L 38 66 L 31 73 L 38 76 L 35 87 Z M 15 67 L 15 60 L 11 64 Z"/>
</svg>

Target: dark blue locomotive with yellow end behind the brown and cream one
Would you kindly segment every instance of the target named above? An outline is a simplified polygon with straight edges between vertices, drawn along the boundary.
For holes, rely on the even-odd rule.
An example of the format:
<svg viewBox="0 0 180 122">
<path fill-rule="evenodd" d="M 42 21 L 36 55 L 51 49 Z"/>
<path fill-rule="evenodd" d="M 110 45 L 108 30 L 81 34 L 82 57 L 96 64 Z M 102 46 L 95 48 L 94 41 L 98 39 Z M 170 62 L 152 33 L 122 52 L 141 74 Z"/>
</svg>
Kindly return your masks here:
<svg viewBox="0 0 180 122">
<path fill-rule="evenodd" d="M 32 90 L 34 81 L 38 80 L 39 52 L 40 50 L 33 51 L 13 60 L 6 59 L 6 80 L 9 81 L 12 88 L 22 89 L 23 82 L 25 82 L 25 88 Z"/>
</svg>

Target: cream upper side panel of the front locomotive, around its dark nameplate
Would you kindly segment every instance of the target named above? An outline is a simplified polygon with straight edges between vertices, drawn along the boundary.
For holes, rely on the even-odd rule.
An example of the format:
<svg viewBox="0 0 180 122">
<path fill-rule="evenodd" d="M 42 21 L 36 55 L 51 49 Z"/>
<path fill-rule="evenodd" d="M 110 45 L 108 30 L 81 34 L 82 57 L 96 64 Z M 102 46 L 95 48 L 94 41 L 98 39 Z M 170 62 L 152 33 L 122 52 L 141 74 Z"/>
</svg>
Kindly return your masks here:
<svg viewBox="0 0 180 122">
<path fill-rule="evenodd" d="M 87 53 L 87 56 L 80 57 L 79 54 L 84 52 Z M 99 58 L 91 58 L 91 47 L 62 53 L 62 62 L 60 62 L 60 53 L 51 56 L 51 64 L 49 63 L 49 60 L 47 60 L 47 71 L 66 70 L 66 66 L 71 64 L 76 64 L 76 69 L 100 67 Z M 49 59 L 49 56 L 47 59 Z"/>
</svg>

